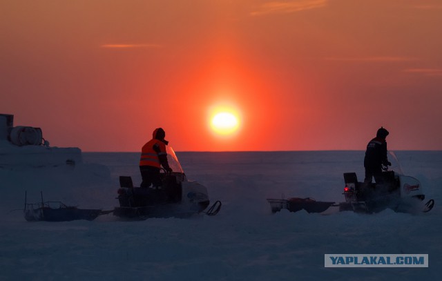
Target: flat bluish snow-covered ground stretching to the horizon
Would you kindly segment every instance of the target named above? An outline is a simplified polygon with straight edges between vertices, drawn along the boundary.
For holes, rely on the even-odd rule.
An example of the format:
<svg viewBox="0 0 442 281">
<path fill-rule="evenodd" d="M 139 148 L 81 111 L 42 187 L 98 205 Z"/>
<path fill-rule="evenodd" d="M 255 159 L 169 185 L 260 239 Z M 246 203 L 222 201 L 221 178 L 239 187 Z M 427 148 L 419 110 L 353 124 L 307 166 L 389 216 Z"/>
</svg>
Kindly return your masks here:
<svg viewBox="0 0 442 281">
<path fill-rule="evenodd" d="M 215 217 L 26 222 L 28 202 L 117 206 L 119 175 L 139 184 L 138 153 L 83 153 L 75 166 L 0 168 L 0 280 L 439 280 L 442 152 L 396 152 L 430 213 L 271 214 L 267 198 L 343 201 L 362 151 L 177 153 L 187 177 L 221 200 Z M 391 158 L 390 158 L 391 159 Z M 324 254 L 428 254 L 428 268 L 325 268 Z"/>
</svg>

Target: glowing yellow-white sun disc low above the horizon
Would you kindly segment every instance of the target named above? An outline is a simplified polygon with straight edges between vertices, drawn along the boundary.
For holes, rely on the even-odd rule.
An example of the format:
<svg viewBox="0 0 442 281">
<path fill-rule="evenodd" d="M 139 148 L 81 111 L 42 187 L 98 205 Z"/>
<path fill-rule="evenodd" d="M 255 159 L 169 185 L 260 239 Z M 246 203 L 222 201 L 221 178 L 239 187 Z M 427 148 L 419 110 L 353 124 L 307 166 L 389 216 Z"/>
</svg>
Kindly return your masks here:
<svg viewBox="0 0 442 281">
<path fill-rule="evenodd" d="M 232 136 L 240 128 L 240 117 L 232 108 L 217 108 L 212 111 L 210 128 L 216 135 Z"/>
</svg>

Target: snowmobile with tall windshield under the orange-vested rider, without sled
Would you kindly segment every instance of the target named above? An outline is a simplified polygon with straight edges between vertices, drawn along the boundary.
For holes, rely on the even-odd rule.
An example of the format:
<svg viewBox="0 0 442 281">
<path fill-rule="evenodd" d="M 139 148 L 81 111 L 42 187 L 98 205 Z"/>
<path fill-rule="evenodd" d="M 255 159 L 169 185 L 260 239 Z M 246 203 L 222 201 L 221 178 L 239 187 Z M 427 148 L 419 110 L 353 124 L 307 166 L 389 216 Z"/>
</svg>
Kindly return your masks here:
<svg viewBox="0 0 442 281">
<path fill-rule="evenodd" d="M 162 186 L 134 187 L 131 177 L 119 177 L 119 206 L 115 207 L 113 215 L 145 220 L 149 217 L 190 217 L 195 213 L 216 215 L 220 211 L 220 201 L 204 211 L 210 204 L 207 188 L 198 182 L 187 180 L 171 146 L 166 146 L 166 152 L 172 172 L 161 171 Z"/>
</svg>

